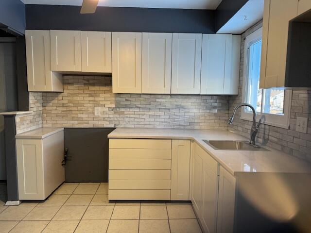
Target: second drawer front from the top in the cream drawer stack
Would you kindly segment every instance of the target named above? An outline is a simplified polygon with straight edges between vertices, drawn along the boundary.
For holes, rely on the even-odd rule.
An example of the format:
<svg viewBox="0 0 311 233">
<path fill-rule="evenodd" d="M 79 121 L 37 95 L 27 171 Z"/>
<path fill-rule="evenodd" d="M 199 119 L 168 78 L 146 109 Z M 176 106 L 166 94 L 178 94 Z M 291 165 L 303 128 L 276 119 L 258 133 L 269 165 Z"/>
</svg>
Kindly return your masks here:
<svg viewBox="0 0 311 233">
<path fill-rule="evenodd" d="M 171 149 L 109 149 L 109 159 L 171 159 Z"/>
</svg>

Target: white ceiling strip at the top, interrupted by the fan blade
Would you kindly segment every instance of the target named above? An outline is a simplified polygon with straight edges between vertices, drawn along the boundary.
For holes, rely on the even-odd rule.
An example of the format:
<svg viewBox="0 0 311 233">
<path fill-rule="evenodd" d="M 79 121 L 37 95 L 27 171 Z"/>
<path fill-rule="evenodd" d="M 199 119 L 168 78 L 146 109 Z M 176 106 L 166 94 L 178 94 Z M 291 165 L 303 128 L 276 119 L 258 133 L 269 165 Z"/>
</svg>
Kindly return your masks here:
<svg viewBox="0 0 311 233">
<path fill-rule="evenodd" d="M 25 4 L 81 6 L 82 0 L 21 0 Z M 222 0 L 99 0 L 99 6 L 215 10 Z"/>
</svg>

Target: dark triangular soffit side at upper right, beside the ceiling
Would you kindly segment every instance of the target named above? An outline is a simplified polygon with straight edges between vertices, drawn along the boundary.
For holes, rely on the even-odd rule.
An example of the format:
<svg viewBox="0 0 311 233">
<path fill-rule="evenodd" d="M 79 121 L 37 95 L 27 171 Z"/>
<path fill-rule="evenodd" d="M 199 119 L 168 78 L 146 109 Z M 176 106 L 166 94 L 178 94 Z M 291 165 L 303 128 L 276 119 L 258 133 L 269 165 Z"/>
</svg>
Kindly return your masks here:
<svg viewBox="0 0 311 233">
<path fill-rule="evenodd" d="M 221 27 L 233 17 L 248 0 L 222 0 L 216 9 L 216 29 Z"/>
</svg>

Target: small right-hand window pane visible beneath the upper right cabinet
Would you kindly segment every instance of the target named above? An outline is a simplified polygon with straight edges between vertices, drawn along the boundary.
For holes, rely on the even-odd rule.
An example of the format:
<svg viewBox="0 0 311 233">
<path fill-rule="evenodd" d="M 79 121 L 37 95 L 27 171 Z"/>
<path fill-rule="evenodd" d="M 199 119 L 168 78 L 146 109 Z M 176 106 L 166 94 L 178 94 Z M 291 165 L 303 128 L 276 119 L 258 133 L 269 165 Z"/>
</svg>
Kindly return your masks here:
<svg viewBox="0 0 311 233">
<path fill-rule="evenodd" d="M 284 115 L 284 90 L 264 90 L 263 108 L 264 113 Z"/>
</svg>

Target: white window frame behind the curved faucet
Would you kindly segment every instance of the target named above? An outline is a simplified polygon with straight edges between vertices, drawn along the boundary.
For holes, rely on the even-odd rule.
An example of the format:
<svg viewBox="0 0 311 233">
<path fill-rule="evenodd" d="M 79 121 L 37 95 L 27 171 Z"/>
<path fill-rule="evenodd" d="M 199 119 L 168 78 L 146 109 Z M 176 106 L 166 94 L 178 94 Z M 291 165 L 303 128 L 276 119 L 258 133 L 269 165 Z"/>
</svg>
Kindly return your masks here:
<svg viewBox="0 0 311 233">
<path fill-rule="evenodd" d="M 255 32 L 249 34 L 245 38 L 244 44 L 244 62 L 243 62 L 243 88 L 242 88 L 242 102 L 247 100 L 247 90 L 248 90 L 248 51 L 250 42 L 262 38 L 262 28 L 259 28 Z M 279 89 L 279 88 L 278 88 Z M 285 90 L 284 93 L 284 115 L 267 114 L 267 113 L 257 113 L 257 122 L 261 119 L 262 124 L 276 126 L 284 129 L 289 129 L 290 126 L 290 113 L 291 113 L 291 103 L 292 103 L 292 91 Z M 241 119 L 243 120 L 253 120 L 253 113 L 245 112 L 245 108 L 242 107 Z M 256 109 L 256 106 L 255 106 Z"/>
</svg>

